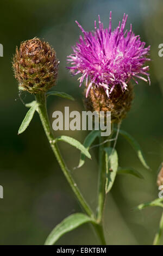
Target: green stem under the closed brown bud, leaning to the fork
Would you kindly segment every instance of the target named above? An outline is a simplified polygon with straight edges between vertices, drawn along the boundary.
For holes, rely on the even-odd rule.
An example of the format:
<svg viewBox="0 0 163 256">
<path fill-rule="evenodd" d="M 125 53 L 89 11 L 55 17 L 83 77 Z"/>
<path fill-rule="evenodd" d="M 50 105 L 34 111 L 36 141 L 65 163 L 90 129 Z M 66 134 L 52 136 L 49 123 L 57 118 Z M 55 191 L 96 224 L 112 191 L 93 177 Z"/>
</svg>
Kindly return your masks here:
<svg viewBox="0 0 163 256">
<path fill-rule="evenodd" d="M 55 157 L 58 160 L 58 163 L 62 169 L 62 172 L 64 173 L 68 183 L 70 184 L 74 194 L 76 194 L 76 197 L 82 205 L 82 208 L 85 210 L 86 214 L 89 215 L 92 219 L 95 219 L 92 210 L 90 209 L 89 205 L 85 202 L 85 199 L 83 198 L 82 194 L 80 193 L 76 183 L 74 182 L 70 170 L 66 167 L 66 164 L 64 160 L 62 159 L 62 156 L 60 154 L 59 148 L 57 144 L 54 141 L 54 136 L 52 132 L 51 125 L 49 124 L 48 114 L 47 114 L 47 107 L 46 107 L 46 95 L 45 93 L 39 93 L 35 95 L 35 99 L 37 103 L 39 103 L 38 112 L 40 115 L 40 119 L 43 125 L 43 129 L 45 130 L 46 136 L 48 138 L 48 141 L 51 145 L 51 148 L 53 150 L 53 153 Z"/>
</svg>

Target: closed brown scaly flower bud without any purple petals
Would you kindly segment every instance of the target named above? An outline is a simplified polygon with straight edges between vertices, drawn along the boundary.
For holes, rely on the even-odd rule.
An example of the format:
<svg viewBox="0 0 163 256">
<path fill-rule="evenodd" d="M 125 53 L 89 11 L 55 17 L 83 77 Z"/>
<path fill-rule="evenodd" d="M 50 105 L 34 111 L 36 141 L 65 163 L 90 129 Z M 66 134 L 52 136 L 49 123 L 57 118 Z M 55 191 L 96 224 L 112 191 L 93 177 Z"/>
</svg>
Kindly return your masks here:
<svg viewBox="0 0 163 256">
<path fill-rule="evenodd" d="M 46 92 L 55 85 L 59 61 L 48 42 L 30 39 L 16 48 L 13 59 L 15 78 L 22 90 Z"/>
</svg>

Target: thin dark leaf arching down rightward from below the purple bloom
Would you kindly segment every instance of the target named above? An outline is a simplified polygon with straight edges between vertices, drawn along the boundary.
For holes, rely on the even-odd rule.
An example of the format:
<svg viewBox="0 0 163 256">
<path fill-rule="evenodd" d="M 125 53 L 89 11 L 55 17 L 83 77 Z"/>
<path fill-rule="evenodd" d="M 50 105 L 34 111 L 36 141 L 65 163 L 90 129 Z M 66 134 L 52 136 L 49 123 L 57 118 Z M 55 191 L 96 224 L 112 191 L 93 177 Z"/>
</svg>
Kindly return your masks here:
<svg viewBox="0 0 163 256">
<path fill-rule="evenodd" d="M 116 129 L 115 129 L 116 130 Z M 130 143 L 130 145 L 133 147 L 133 149 L 136 151 L 137 156 L 139 157 L 140 162 L 143 164 L 143 166 L 147 169 L 150 169 L 148 164 L 146 163 L 145 157 L 143 156 L 142 150 L 140 148 L 140 145 L 135 139 L 129 135 L 128 132 L 120 130 L 120 134 L 127 139 L 127 141 Z"/>
</svg>

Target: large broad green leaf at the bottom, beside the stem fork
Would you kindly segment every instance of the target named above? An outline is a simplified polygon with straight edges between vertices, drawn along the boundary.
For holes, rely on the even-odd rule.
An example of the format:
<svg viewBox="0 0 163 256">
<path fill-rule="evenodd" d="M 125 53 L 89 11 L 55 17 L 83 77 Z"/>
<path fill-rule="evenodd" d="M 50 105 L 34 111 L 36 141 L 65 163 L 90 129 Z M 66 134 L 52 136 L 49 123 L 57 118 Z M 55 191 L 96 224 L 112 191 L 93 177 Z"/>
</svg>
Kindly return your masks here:
<svg viewBox="0 0 163 256">
<path fill-rule="evenodd" d="M 93 222 L 90 217 L 85 214 L 72 214 L 58 224 L 47 237 L 45 245 L 54 245 L 54 243 L 67 232 L 78 228 L 80 225 Z"/>
</svg>

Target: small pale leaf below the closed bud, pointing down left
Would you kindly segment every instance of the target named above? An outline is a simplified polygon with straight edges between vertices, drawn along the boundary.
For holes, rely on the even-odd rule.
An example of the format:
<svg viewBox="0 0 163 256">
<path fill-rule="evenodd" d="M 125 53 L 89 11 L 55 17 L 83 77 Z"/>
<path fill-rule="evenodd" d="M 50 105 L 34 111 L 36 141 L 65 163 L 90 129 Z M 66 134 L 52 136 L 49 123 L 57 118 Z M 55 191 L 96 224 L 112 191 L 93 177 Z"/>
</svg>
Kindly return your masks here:
<svg viewBox="0 0 163 256">
<path fill-rule="evenodd" d="M 30 121 L 33 118 L 33 115 L 34 115 L 37 107 L 38 107 L 38 103 L 35 102 L 35 104 L 29 108 L 29 110 L 26 114 L 26 117 L 24 117 L 24 120 L 22 121 L 20 129 L 18 130 L 18 134 L 24 132 L 27 129 L 28 125 L 30 124 Z"/>
</svg>

